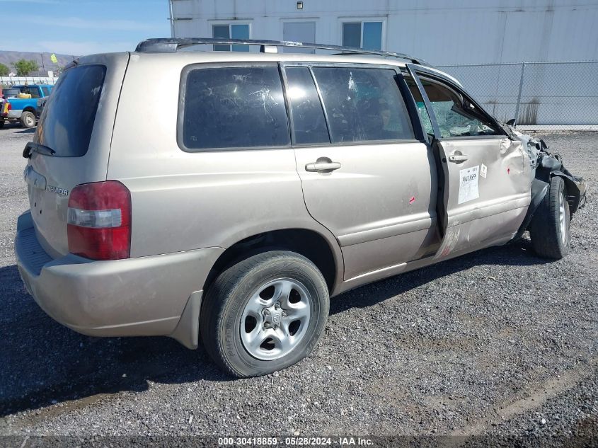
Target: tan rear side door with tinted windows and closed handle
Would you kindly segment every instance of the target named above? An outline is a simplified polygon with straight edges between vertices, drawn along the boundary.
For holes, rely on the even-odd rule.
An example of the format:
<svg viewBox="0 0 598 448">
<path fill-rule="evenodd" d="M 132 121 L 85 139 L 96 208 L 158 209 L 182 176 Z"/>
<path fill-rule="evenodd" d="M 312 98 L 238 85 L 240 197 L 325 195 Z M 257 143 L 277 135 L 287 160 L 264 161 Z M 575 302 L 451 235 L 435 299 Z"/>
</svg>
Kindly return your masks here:
<svg viewBox="0 0 598 448">
<path fill-rule="evenodd" d="M 401 75 L 386 66 L 283 67 L 305 203 L 338 239 L 345 280 L 435 253 L 435 161 L 415 138 Z"/>
</svg>

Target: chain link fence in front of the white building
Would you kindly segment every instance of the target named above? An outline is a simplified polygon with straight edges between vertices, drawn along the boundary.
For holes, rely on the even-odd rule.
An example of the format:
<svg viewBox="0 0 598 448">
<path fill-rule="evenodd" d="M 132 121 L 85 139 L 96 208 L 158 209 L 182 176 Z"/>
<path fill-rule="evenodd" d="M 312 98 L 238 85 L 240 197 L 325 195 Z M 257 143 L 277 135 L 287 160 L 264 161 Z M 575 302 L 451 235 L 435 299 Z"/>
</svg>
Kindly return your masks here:
<svg viewBox="0 0 598 448">
<path fill-rule="evenodd" d="M 520 130 L 598 130 L 598 61 L 437 67 Z"/>
</svg>

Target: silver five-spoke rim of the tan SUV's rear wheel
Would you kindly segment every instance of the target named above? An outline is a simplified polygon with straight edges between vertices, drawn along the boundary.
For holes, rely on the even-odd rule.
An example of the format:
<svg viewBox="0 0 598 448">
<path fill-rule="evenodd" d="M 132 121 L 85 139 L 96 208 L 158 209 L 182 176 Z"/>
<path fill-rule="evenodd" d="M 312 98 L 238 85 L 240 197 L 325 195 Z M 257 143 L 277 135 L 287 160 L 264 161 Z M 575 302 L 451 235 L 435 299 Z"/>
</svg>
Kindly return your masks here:
<svg viewBox="0 0 598 448">
<path fill-rule="evenodd" d="M 299 345 L 313 299 L 299 281 L 281 278 L 258 287 L 241 316 L 241 343 L 258 360 L 277 360 Z"/>
</svg>

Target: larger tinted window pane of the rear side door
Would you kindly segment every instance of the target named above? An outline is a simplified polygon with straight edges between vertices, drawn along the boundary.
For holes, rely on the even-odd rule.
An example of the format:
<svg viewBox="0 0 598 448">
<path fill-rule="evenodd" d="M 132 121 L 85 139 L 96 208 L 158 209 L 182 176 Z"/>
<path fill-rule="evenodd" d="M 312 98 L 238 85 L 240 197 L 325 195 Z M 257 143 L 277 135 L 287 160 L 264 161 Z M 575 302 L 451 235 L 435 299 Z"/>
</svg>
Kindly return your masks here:
<svg viewBox="0 0 598 448">
<path fill-rule="evenodd" d="M 314 74 L 333 143 L 415 138 L 395 71 L 314 67 Z"/>
</svg>

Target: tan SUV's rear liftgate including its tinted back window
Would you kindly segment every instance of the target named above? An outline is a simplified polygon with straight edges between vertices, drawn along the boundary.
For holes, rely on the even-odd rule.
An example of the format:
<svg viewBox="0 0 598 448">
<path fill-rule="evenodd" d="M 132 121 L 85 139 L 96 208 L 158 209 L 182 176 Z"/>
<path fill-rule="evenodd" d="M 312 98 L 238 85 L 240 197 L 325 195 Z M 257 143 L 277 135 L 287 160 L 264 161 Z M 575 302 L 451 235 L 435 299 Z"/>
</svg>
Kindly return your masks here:
<svg viewBox="0 0 598 448">
<path fill-rule="evenodd" d="M 106 180 L 110 137 L 128 54 L 81 58 L 54 87 L 33 142 L 55 151 L 32 152 L 25 181 L 35 231 L 42 247 L 57 257 L 68 253 L 69 193 L 81 183 Z"/>
</svg>

